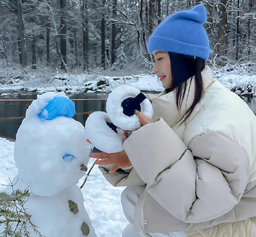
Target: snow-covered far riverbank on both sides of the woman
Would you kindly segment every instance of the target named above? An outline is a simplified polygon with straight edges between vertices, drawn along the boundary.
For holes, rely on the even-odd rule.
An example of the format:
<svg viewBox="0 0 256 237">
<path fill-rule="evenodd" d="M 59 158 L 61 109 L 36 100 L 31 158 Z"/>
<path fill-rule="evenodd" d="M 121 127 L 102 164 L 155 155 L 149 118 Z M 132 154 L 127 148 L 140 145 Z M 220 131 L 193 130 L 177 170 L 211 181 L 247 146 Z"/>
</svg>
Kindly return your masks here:
<svg viewBox="0 0 256 237">
<path fill-rule="evenodd" d="M 256 73 L 247 65 L 226 65 L 224 68 L 213 67 L 214 77 L 230 90 L 237 93 L 252 92 L 256 88 Z M 123 74 L 123 75 L 122 75 Z M 120 76 L 122 75 L 122 76 Z M 83 74 L 50 72 L 45 70 L 10 70 L 0 71 L 0 94 L 8 96 L 9 90 L 27 90 L 43 93 L 47 91 L 65 91 L 66 93 L 107 93 L 118 85 L 133 85 L 140 90 L 161 91 L 162 85 L 156 75 L 147 71 L 140 75 L 131 72 L 119 73 L 119 76 L 100 73 Z M 18 96 L 18 93 L 17 93 Z"/>
</svg>

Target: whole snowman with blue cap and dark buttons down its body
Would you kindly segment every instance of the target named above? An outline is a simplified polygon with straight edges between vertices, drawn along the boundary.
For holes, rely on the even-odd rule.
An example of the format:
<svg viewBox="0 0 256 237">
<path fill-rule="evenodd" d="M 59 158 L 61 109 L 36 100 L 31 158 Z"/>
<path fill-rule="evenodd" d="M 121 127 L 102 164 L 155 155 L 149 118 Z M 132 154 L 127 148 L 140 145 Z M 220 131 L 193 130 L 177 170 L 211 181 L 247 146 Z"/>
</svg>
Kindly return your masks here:
<svg viewBox="0 0 256 237">
<path fill-rule="evenodd" d="M 72 119 L 75 113 L 74 103 L 63 92 L 37 96 L 14 144 L 19 174 L 12 183 L 14 189 L 29 189 L 26 212 L 45 237 L 96 237 L 76 185 L 85 175 L 92 146 L 86 142 L 84 126 Z M 12 192 L 10 187 L 6 191 Z"/>
</svg>

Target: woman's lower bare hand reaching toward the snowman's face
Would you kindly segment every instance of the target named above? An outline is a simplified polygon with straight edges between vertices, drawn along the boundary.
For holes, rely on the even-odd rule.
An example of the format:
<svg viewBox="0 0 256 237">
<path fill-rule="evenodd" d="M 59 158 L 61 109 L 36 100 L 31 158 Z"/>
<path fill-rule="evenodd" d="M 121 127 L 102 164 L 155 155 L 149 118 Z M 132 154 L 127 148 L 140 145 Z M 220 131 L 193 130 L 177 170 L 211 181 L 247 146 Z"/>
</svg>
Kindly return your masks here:
<svg viewBox="0 0 256 237">
<path fill-rule="evenodd" d="M 89 157 L 98 159 L 94 164 L 114 164 L 110 173 L 115 172 L 119 168 L 130 167 L 132 164 L 125 150 L 116 153 L 92 153 Z"/>
</svg>

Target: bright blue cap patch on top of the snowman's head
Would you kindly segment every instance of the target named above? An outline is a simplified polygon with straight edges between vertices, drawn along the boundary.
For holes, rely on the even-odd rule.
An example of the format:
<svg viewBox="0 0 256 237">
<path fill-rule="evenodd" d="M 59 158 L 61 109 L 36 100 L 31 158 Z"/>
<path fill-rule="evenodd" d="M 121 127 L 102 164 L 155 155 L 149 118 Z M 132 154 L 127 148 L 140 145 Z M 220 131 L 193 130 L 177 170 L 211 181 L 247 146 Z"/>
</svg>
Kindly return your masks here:
<svg viewBox="0 0 256 237">
<path fill-rule="evenodd" d="M 58 116 L 73 117 L 76 114 L 76 108 L 73 101 L 69 98 L 59 96 L 51 99 L 47 106 L 37 114 L 41 120 L 53 120 Z"/>
</svg>

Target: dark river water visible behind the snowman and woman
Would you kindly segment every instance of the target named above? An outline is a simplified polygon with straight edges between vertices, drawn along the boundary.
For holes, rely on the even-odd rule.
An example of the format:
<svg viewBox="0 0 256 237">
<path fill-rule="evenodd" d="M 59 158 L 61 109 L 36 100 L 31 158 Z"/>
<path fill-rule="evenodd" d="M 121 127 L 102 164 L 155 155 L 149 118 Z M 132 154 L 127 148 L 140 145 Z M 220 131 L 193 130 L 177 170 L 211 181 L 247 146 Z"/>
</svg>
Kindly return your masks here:
<svg viewBox="0 0 256 237">
<path fill-rule="evenodd" d="M 108 94 L 94 93 L 94 94 L 76 94 L 69 98 L 87 98 L 87 99 L 105 99 Z M 26 110 L 32 101 L 1 101 L 4 99 L 36 99 L 36 93 L 22 93 L 20 96 L 1 96 L 0 97 L 0 136 L 15 138 L 15 134 L 19 129 L 22 119 L 25 117 Z M 250 106 L 252 111 L 256 114 L 256 98 L 244 97 L 244 101 Z M 90 113 L 93 111 L 105 111 L 105 101 L 74 101 L 76 105 L 76 115 L 74 119 L 85 124 Z"/>
</svg>

